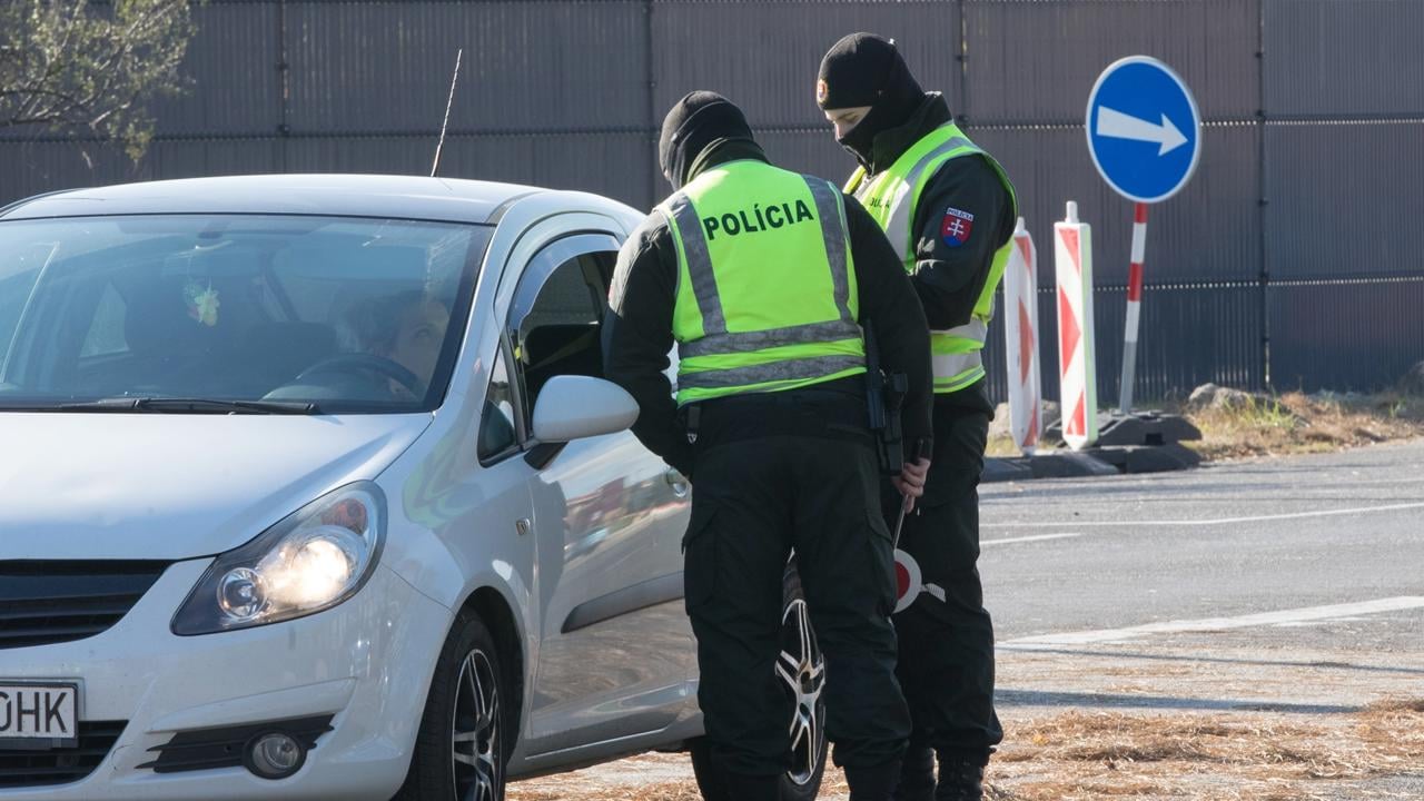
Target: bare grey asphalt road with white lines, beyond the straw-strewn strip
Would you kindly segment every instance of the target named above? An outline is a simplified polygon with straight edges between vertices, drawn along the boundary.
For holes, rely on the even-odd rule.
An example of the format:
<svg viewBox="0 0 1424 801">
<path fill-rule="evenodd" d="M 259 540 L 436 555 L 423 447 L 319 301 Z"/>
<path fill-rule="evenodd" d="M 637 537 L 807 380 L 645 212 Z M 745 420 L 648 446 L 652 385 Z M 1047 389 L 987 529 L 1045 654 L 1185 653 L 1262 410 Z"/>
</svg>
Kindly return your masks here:
<svg viewBox="0 0 1424 801">
<path fill-rule="evenodd" d="M 1284 626 L 1384 616 L 1413 626 L 1371 626 L 1357 647 L 1418 644 L 1424 442 L 1185 473 L 985 485 L 981 542 L 985 603 L 1001 643 L 1279 613 L 1240 630 L 1267 640 L 1287 631 L 1304 646 L 1327 643 L 1329 626 Z M 1356 606 L 1306 611 L 1341 604 Z"/>
</svg>

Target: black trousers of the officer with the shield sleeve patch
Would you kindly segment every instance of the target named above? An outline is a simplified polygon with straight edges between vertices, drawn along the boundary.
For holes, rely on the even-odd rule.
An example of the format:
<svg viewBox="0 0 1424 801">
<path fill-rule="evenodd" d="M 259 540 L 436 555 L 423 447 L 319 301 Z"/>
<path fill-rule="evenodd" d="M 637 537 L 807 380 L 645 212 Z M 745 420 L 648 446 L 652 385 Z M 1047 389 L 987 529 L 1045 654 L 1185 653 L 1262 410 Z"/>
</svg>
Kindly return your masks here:
<svg viewBox="0 0 1424 801">
<path fill-rule="evenodd" d="M 934 406 L 924 497 L 900 533 L 900 550 L 920 567 L 920 594 L 894 616 L 897 676 L 914 721 L 911 751 L 933 747 L 941 758 L 978 764 L 1004 740 L 994 713 L 994 626 L 977 567 L 988 420 L 980 409 Z M 897 503 L 889 490 L 891 527 Z"/>
</svg>

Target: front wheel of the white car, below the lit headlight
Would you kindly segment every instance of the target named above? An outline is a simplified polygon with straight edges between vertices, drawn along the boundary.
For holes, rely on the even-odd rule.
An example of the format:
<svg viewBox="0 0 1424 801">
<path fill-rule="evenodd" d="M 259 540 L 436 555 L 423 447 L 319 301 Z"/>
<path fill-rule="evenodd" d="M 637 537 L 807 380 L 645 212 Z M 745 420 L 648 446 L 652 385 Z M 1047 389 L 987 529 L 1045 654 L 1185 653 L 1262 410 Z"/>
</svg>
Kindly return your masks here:
<svg viewBox="0 0 1424 801">
<path fill-rule="evenodd" d="M 457 616 L 436 663 L 410 772 L 392 801 L 504 801 L 517 725 L 508 687 L 490 630 L 471 613 Z"/>
</svg>

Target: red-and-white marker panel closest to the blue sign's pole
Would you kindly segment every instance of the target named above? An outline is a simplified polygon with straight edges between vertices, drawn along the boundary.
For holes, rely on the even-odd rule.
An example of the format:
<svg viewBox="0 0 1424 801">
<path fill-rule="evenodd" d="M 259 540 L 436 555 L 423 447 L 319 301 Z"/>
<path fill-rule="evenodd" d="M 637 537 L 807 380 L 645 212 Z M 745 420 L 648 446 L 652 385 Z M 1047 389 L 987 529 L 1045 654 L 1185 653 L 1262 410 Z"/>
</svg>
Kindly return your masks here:
<svg viewBox="0 0 1424 801">
<path fill-rule="evenodd" d="M 1098 442 L 1098 375 L 1092 346 L 1092 228 L 1068 218 L 1054 224 L 1054 271 L 1058 278 L 1058 378 L 1064 442 L 1082 450 Z"/>
</svg>

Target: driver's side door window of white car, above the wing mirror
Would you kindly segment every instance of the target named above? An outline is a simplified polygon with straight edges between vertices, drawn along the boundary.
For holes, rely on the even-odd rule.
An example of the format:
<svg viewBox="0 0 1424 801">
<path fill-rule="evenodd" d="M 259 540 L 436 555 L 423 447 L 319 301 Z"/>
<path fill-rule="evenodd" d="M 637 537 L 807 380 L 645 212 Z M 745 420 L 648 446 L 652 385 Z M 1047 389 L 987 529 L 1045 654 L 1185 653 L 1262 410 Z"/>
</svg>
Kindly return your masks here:
<svg viewBox="0 0 1424 801">
<path fill-rule="evenodd" d="M 510 335 L 525 415 L 555 375 L 602 378 L 600 326 L 617 248 L 611 237 L 570 237 L 534 257 L 520 278 Z"/>
</svg>

